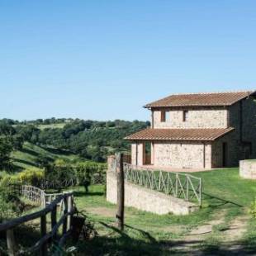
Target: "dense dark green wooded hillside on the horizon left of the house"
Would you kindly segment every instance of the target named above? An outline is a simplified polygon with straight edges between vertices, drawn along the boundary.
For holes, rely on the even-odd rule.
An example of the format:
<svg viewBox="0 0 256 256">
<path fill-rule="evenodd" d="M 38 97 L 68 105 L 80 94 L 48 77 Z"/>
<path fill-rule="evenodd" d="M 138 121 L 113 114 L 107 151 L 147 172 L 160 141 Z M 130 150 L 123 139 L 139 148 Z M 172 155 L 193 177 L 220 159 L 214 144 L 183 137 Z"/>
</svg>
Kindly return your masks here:
<svg viewBox="0 0 256 256">
<path fill-rule="evenodd" d="M 64 120 L 67 122 L 67 119 Z M 123 140 L 126 135 L 150 125 L 148 121 L 69 120 L 63 128 L 56 126 L 40 130 L 36 123 L 24 125 L 22 122 L 12 123 L 12 120 L 4 119 L 0 121 L 0 138 L 4 135 L 14 149 L 21 149 L 22 143 L 28 141 L 35 145 L 68 150 L 92 161 L 104 162 L 107 154 L 130 150 L 130 142 Z"/>
</svg>

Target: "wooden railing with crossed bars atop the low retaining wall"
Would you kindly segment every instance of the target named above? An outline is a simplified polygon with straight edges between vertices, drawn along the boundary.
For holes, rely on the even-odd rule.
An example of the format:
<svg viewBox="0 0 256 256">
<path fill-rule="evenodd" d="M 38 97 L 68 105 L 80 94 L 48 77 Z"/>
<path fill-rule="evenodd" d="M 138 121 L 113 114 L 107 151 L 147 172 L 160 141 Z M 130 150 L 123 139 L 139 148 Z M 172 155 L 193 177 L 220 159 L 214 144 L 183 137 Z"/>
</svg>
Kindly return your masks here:
<svg viewBox="0 0 256 256">
<path fill-rule="evenodd" d="M 187 173 L 150 170 L 124 163 L 125 180 L 159 192 L 164 192 L 201 206 L 201 178 Z"/>
</svg>

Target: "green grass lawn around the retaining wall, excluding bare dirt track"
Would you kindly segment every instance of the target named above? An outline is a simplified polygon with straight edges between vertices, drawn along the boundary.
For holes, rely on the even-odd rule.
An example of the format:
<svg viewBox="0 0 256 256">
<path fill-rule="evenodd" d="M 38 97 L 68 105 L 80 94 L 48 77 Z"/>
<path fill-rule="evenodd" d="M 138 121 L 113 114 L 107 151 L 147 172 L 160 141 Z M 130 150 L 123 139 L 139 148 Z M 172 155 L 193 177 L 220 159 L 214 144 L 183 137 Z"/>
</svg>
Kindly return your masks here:
<svg viewBox="0 0 256 256">
<path fill-rule="evenodd" d="M 204 255 L 225 255 L 230 252 L 234 241 L 229 229 L 234 220 L 246 216 L 246 230 L 239 237 L 246 252 L 256 250 L 256 220 L 248 214 L 248 207 L 256 196 L 256 182 L 239 178 L 237 168 L 213 170 L 206 173 L 195 173 L 203 178 L 203 204 L 200 211 L 189 216 L 158 216 L 145 211 L 126 207 L 126 229 L 116 229 L 116 206 L 105 198 L 105 187 L 90 187 L 88 195 L 83 187 L 75 187 L 75 201 L 79 211 L 88 212 L 88 220 L 95 225 L 99 235 L 90 241 L 78 244 L 81 255 L 189 255 L 190 250 L 178 249 L 177 244 L 187 239 L 197 227 L 211 223 L 212 230 L 204 235 L 201 244 L 193 249 L 200 249 Z M 229 232 L 226 232 L 228 230 Z M 229 244 L 230 243 L 230 244 Z M 223 247 L 225 246 L 225 247 Z"/>
</svg>

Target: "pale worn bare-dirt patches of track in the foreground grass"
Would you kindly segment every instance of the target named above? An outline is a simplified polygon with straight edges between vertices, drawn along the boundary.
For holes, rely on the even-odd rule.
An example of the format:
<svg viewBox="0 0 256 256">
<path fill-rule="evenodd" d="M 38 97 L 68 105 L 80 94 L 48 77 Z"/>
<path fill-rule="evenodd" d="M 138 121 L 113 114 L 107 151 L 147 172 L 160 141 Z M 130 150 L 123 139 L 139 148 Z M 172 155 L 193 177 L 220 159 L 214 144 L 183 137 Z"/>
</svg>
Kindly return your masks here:
<svg viewBox="0 0 256 256">
<path fill-rule="evenodd" d="M 115 216 L 116 214 L 116 209 L 102 206 L 90 207 L 87 211 L 91 214 L 107 217 Z M 201 251 L 204 245 L 208 243 L 207 239 L 211 238 L 211 235 L 217 234 L 217 239 L 221 241 L 221 245 L 217 244 L 221 255 L 245 255 L 241 239 L 247 229 L 249 216 L 246 216 L 245 213 L 243 216 L 237 216 L 234 220 L 231 220 L 227 230 L 217 231 L 218 233 L 215 233 L 214 227 L 216 225 L 225 225 L 225 214 L 226 211 L 221 211 L 216 216 L 213 216 L 213 219 L 209 220 L 206 224 L 192 229 L 182 239 L 174 239 L 169 249 L 172 252 L 177 252 L 178 255 L 218 255 Z M 186 226 L 175 226 L 165 227 L 163 231 L 181 234 L 185 229 Z"/>
</svg>

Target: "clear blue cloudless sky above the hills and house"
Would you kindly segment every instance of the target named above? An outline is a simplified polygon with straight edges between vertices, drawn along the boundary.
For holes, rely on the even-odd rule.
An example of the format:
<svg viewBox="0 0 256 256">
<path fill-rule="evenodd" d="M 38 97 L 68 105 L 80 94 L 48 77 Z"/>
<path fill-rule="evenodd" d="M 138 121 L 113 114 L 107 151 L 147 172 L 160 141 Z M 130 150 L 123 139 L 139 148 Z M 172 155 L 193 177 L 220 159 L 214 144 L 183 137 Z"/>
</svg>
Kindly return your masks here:
<svg viewBox="0 0 256 256">
<path fill-rule="evenodd" d="M 147 120 L 177 92 L 256 88 L 256 1 L 0 0 L 0 118 Z"/>
</svg>

